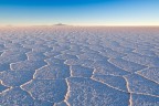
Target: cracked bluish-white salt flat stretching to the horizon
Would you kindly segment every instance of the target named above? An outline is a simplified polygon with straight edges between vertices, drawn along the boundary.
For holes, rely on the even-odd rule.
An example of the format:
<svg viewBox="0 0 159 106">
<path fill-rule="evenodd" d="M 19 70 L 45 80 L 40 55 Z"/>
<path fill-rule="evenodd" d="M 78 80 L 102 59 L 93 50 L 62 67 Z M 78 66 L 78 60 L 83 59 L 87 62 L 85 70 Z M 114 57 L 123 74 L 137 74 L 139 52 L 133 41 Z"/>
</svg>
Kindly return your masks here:
<svg viewBox="0 0 159 106">
<path fill-rule="evenodd" d="M 159 106 L 159 28 L 0 29 L 1 106 Z"/>
</svg>

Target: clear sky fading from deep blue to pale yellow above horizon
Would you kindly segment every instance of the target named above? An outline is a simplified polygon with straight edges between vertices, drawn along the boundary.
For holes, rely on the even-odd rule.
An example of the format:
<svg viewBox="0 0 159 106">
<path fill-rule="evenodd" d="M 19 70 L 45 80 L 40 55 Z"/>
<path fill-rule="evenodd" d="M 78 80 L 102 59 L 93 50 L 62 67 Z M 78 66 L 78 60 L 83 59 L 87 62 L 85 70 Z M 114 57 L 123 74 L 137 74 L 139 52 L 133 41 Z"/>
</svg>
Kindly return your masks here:
<svg viewBox="0 0 159 106">
<path fill-rule="evenodd" d="M 0 0 L 0 25 L 159 25 L 159 0 Z"/>
</svg>

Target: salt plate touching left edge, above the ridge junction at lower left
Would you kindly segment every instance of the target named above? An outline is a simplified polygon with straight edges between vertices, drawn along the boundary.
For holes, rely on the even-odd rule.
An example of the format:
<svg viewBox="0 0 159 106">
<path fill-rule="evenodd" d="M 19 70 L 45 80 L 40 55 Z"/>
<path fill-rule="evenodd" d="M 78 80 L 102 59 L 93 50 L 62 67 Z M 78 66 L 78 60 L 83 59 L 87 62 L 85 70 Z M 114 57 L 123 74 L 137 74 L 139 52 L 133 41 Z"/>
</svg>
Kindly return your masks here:
<svg viewBox="0 0 159 106">
<path fill-rule="evenodd" d="M 0 73 L 0 80 L 7 86 L 20 86 L 33 78 L 34 71 L 6 71 Z"/>
</svg>

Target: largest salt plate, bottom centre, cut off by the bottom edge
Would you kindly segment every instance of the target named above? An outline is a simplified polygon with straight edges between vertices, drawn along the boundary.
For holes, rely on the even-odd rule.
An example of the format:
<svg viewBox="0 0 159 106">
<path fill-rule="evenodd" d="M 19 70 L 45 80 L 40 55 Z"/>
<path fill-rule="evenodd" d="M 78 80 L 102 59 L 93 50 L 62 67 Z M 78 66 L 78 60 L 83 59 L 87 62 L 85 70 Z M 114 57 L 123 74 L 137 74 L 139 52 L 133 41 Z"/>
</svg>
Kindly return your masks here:
<svg viewBox="0 0 159 106">
<path fill-rule="evenodd" d="M 91 78 L 67 78 L 71 106 L 128 106 L 129 94 L 110 88 Z M 115 96 L 116 95 L 116 96 Z"/>
</svg>

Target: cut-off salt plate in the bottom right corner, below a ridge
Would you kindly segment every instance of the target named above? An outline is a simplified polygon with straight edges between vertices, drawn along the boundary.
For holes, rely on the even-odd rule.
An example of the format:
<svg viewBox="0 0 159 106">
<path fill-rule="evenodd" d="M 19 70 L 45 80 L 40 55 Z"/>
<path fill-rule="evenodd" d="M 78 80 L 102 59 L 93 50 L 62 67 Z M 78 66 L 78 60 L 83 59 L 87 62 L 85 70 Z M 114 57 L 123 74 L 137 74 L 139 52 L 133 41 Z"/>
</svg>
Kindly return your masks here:
<svg viewBox="0 0 159 106">
<path fill-rule="evenodd" d="M 132 94 L 134 106 L 159 106 L 159 97 Z"/>
</svg>

